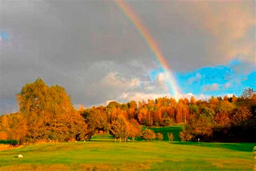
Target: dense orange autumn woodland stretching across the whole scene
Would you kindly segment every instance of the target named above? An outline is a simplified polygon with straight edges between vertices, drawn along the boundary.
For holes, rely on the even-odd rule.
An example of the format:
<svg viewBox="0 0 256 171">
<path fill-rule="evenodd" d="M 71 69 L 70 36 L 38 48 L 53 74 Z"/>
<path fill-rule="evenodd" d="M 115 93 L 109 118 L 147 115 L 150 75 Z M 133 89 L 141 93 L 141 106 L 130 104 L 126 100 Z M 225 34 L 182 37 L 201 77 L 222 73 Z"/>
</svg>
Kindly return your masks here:
<svg viewBox="0 0 256 171">
<path fill-rule="evenodd" d="M 42 79 L 26 84 L 17 94 L 19 111 L 0 117 L 0 140 L 51 142 L 90 140 L 94 134 L 109 132 L 117 141 L 142 136 L 157 138 L 141 126 L 185 124 L 180 140 L 256 142 L 256 93 L 247 88 L 241 96 L 210 98 L 208 101 L 157 98 L 126 104 L 76 110 L 66 90 L 47 86 Z M 173 139 L 173 138 L 172 138 Z"/>
</svg>

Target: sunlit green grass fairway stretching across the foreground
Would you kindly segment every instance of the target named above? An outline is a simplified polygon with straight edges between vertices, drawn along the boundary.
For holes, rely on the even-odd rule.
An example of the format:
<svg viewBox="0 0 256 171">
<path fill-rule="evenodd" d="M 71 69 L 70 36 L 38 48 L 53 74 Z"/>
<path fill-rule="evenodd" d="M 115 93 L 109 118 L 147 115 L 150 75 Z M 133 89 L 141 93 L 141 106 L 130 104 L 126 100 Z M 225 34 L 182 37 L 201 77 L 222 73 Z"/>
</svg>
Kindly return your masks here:
<svg viewBox="0 0 256 171">
<path fill-rule="evenodd" d="M 154 128 L 171 132 L 181 126 Z M 168 130 L 168 131 L 166 131 Z M 177 135 L 176 133 L 174 134 Z M 166 136 L 164 135 L 165 140 Z M 178 137 L 176 137 L 178 138 Z M 177 139 L 175 139 L 177 140 Z M 108 134 L 91 142 L 42 143 L 0 151 L 0 170 L 248 170 L 254 166 L 255 143 L 168 141 L 115 143 Z M 23 158 L 18 158 L 22 154 Z"/>
</svg>

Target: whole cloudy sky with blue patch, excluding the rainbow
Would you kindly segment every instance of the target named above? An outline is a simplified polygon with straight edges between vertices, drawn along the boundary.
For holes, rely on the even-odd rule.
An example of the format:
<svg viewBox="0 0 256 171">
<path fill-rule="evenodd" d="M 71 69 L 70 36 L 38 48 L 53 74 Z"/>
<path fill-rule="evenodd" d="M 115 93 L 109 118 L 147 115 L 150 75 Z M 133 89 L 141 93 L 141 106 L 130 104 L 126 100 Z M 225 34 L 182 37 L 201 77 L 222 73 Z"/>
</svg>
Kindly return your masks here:
<svg viewBox="0 0 256 171">
<path fill-rule="evenodd" d="M 208 99 L 256 89 L 254 1 L 0 1 L 0 115 L 40 77 L 75 107 L 116 100 Z M 172 80 L 166 72 L 171 73 Z"/>
</svg>

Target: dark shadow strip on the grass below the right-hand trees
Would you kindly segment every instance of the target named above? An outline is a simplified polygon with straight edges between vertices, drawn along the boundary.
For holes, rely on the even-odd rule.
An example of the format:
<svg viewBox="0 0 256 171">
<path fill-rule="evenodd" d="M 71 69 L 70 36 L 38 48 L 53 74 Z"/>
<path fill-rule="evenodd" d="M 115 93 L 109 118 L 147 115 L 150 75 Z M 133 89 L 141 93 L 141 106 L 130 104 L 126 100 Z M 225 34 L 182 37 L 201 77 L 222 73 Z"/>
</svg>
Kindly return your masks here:
<svg viewBox="0 0 256 171">
<path fill-rule="evenodd" d="M 252 151 L 256 143 L 218 143 L 218 142 L 172 142 L 176 145 L 192 145 L 197 147 L 212 147 L 212 148 L 222 148 L 222 149 L 231 149 L 235 151 Z"/>
</svg>

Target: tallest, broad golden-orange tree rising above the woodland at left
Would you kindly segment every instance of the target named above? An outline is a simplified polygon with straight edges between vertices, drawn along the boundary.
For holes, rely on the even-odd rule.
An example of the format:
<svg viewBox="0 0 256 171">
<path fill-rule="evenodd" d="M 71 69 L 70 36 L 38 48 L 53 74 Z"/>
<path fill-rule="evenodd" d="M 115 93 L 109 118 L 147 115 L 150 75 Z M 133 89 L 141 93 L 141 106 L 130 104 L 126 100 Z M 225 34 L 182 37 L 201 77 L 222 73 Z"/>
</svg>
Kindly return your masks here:
<svg viewBox="0 0 256 171">
<path fill-rule="evenodd" d="M 38 78 L 34 83 L 22 87 L 17 94 L 17 101 L 26 120 L 28 139 L 60 138 L 61 141 L 68 141 L 85 133 L 80 131 L 86 130 L 86 124 L 80 124 L 83 118 L 76 114 L 70 96 L 62 86 L 49 87 Z M 77 125 L 82 128 L 79 130 Z M 70 136 L 64 138 L 66 134 Z"/>
</svg>

